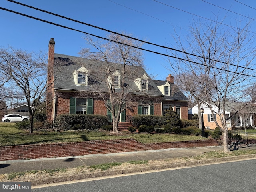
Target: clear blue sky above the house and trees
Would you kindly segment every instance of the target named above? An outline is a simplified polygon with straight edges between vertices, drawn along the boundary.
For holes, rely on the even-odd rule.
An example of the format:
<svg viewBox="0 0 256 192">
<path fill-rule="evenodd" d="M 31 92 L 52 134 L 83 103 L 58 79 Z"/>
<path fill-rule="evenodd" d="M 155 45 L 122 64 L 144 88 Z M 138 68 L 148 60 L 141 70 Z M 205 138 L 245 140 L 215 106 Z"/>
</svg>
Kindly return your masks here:
<svg viewBox="0 0 256 192">
<path fill-rule="evenodd" d="M 195 15 L 212 20 L 215 20 L 216 16 L 222 19 L 226 15 L 224 23 L 232 26 L 235 25 L 235 20 L 239 19 L 239 15 L 232 12 L 252 18 L 254 26 L 254 19 L 256 19 L 255 0 L 237 0 L 238 2 L 236 0 L 206 0 L 232 12 L 202 0 L 158 0 L 158 2 L 154 0 L 17 1 L 115 32 L 133 34 L 136 38 L 171 48 L 176 46 L 172 36 L 174 29 L 182 36 L 186 36 L 189 33 L 188 29 L 192 20 L 198 19 Z M 0 0 L 0 6 L 98 36 L 106 37 L 108 34 L 102 30 L 51 16 L 6 0 Z M 202 22 L 208 22 L 203 18 L 200 19 Z M 29 52 L 38 50 L 47 52 L 50 38 L 55 39 L 55 52 L 60 54 L 78 56 L 81 48 L 87 47 L 83 39 L 84 34 L 80 32 L 53 26 L 5 10 L 0 10 L 0 23 L 0 46 L 3 47 L 10 45 Z M 255 31 L 255 27 L 252 27 L 251 31 Z M 142 48 L 166 54 L 165 49 L 155 46 L 144 44 Z M 149 52 L 143 53 L 148 74 L 155 75 L 158 80 L 165 80 L 166 76 L 172 73 L 170 64 L 164 56 Z"/>
</svg>

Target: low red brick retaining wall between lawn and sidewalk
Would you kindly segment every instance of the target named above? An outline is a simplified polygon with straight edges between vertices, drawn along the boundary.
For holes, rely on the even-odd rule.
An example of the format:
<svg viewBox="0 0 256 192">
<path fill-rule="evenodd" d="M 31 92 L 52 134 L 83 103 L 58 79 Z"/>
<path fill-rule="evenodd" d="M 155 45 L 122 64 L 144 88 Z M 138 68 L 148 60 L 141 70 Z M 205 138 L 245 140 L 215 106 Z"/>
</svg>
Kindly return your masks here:
<svg viewBox="0 0 256 192">
<path fill-rule="evenodd" d="M 0 161 L 89 154 L 120 153 L 180 147 L 219 145 L 214 139 L 142 144 L 134 139 L 116 139 L 52 144 L 32 144 L 0 147 Z"/>
</svg>

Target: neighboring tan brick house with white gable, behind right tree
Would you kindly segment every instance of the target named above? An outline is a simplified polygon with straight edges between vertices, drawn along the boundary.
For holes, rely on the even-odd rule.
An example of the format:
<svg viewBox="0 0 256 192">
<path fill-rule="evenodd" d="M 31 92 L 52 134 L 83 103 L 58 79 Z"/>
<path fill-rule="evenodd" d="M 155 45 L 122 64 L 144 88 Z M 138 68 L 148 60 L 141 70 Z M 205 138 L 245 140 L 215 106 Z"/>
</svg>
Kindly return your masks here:
<svg viewBox="0 0 256 192">
<path fill-rule="evenodd" d="M 206 129 L 214 130 L 217 127 L 216 123 L 214 122 L 214 118 L 216 119 L 218 124 L 221 126 L 220 117 L 218 114 L 217 115 L 215 113 L 212 114 L 210 108 L 208 108 L 204 104 L 201 104 L 201 107 L 204 108 L 203 117 L 204 117 L 204 126 Z M 218 111 L 218 108 L 214 105 L 212 105 L 212 109 L 214 111 Z M 190 108 L 190 110 L 188 110 L 188 116 L 193 116 L 194 114 L 198 114 L 198 105 L 196 105 L 196 106 Z M 223 115 L 223 113 L 221 115 Z M 226 115 L 226 118 L 229 118 L 230 112 L 225 111 L 225 115 Z M 227 120 L 227 126 L 228 126 L 228 129 L 231 129 L 231 127 L 232 127 L 231 118 L 229 118 L 229 120 Z"/>
</svg>

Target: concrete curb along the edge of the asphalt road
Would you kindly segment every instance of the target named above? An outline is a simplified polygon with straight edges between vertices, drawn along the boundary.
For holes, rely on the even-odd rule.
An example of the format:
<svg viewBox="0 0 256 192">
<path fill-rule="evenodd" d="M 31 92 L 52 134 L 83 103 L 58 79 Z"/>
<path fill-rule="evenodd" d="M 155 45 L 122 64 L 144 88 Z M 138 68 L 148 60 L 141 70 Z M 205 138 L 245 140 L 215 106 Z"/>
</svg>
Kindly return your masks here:
<svg viewBox="0 0 256 192">
<path fill-rule="evenodd" d="M 170 164 L 155 165 L 155 166 L 143 166 L 143 167 L 136 167 L 136 168 L 120 169 L 120 170 L 106 170 L 106 171 L 98 171 L 98 172 L 90 172 L 90 173 L 70 174 L 70 175 L 64 175 L 64 176 L 58 176 L 58 177 L 40 178 L 40 179 L 27 180 L 27 181 L 31 182 L 32 186 L 38 186 L 38 185 L 44 185 L 44 184 L 82 180 L 82 179 L 88 179 L 88 178 L 98 178 L 98 177 L 104 177 L 104 176 L 114 176 L 114 175 L 146 172 L 146 171 L 153 171 L 153 170 L 163 170 L 163 169 L 194 166 L 194 165 L 204 165 L 204 164 L 211 164 L 216 162 L 218 163 L 230 162 L 230 161 L 250 159 L 250 158 L 256 158 L 256 154 L 213 158 L 213 159 L 206 159 L 206 160 L 195 160 L 195 161 L 189 161 L 189 162 L 170 163 Z"/>
</svg>

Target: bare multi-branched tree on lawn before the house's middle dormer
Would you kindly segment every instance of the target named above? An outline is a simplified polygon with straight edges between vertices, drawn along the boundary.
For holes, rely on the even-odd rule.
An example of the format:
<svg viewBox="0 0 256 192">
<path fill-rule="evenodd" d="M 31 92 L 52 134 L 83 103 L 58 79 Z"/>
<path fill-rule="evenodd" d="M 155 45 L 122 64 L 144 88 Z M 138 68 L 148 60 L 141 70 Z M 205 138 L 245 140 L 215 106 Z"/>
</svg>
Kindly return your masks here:
<svg viewBox="0 0 256 192">
<path fill-rule="evenodd" d="M 108 39 L 115 42 L 98 42 L 86 36 L 86 42 L 93 50 L 82 49 L 80 55 L 82 58 L 103 61 L 100 66 L 94 66 L 95 71 L 90 75 L 99 79 L 99 86 L 101 83 L 106 84 L 107 90 L 102 92 L 98 89 L 94 97 L 98 96 L 104 100 L 106 108 L 112 114 L 113 133 L 117 133 L 120 114 L 126 109 L 131 110 L 134 106 L 142 105 L 143 100 L 147 100 L 149 96 L 146 91 L 142 91 L 143 88 L 134 90 L 129 84 L 131 81 L 138 81 L 137 79 L 142 77 L 141 71 L 144 71 L 142 52 L 133 47 L 140 47 L 142 44 L 116 34 L 110 34 Z M 96 89 L 96 83 L 94 88 Z M 92 93 L 90 94 L 92 96 Z M 142 102 L 138 104 L 138 100 Z"/>
</svg>

